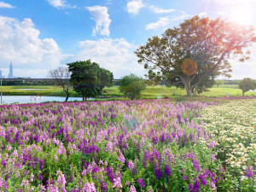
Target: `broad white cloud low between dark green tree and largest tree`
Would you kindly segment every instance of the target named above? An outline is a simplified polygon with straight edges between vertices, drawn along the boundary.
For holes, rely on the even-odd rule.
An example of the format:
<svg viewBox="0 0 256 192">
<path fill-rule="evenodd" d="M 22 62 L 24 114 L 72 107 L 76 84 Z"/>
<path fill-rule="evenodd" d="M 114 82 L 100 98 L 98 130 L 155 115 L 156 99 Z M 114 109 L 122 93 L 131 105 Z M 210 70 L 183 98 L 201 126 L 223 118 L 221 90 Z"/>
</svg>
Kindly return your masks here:
<svg viewBox="0 0 256 192">
<path fill-rule="evenodd" d="M 96 41 L 80 42 L 81 51 L 74 56 L 73 61 L 95 61 L 111 72 L 115 79 L 130 73 L 143 76 L 145 70 L 137 63 L 137 55 L 133 53 L 137 45 L 131 44 L 125 38 L 101 38 Z"/>
</svg>

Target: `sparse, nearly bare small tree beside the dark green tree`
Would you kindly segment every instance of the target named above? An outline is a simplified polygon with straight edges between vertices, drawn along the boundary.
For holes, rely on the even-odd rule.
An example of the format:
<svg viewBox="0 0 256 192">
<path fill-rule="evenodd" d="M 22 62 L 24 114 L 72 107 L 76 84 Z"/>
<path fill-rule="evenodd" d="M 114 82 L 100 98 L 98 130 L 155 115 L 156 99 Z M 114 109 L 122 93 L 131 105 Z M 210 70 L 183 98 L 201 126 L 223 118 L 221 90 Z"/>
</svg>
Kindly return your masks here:
<svg viewBox="0 0 256 192">
<path fill-rule="evenodd" d="M 68 100 L 69 90 L 71 87 L 69 82 L 70 74 L 71 73 L 68 71 L 67 67 L 57 67 L 56 69 L 49 70 L 48 74 L 50 79 L 54 79 L 55 85 L 61 87 L 66 93 L 67 96 L 65 102 Z"/>
</svg>

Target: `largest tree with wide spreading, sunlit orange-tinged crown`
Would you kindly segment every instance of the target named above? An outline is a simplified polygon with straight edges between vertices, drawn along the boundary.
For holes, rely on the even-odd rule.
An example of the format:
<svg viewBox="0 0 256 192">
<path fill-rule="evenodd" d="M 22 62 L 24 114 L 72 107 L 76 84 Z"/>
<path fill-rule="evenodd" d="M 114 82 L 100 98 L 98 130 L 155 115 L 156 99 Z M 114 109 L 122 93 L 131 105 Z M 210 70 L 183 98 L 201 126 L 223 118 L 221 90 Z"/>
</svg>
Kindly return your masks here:
<svg viewBox="0 0 256 192">
<path fill-rule="evenodd" d="M 167 29 L 162 37 L 148 38 L 135 53 L 148 69 L 148 79 L 177 79 L 187 95 L 205 79 L 230 77 L 231 56 L 249 59 L 244 49 L 256 42 L 253 26 L 235 26 L 226 20 L 195 16 L 178 27 Z M 177 80 L 172 84 L 177 85 Z"/>
</svg>

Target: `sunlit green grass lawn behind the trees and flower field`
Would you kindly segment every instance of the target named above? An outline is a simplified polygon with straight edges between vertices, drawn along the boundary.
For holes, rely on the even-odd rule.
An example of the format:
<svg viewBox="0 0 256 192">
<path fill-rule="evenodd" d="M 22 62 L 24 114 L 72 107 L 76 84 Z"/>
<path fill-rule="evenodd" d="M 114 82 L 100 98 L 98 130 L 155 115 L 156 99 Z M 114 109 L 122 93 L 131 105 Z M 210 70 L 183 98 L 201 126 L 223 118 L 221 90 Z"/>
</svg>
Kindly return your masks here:
<svg viewBox="0 0 256 192">
<path fill-rule="evenodd" d="M 20 89 L 44 89 L 44 90 L 20 90 Z M 118 86 L 106 87 L 103 91 L 103 96 L 123 96 L 119 92 Z M 66 96 L 65 92 L 61 88 L 55 86 L 3 86 L 4 96 Z M 223 97 L 226 94 L 230 96 L 241 96 L 241 90 L 238 89 L 237 84 L 222 84 L 219 87 L 214 85 L 209 92 L 204 92 L 201 96 L 209 97 Z M 166 86 L 148 86 L 146 90 L 143 90 L 143 99 L 154 98 L 173 98 L 178 96 L 185 96 L 186 91 L 177 89 L 175 87 L 167 88 Z M 78 94 L 71 90 L 70 96 L 78 96 Z M 245 96 L 256 96 L 256 91 L 248 91 Z"/>
</svg>

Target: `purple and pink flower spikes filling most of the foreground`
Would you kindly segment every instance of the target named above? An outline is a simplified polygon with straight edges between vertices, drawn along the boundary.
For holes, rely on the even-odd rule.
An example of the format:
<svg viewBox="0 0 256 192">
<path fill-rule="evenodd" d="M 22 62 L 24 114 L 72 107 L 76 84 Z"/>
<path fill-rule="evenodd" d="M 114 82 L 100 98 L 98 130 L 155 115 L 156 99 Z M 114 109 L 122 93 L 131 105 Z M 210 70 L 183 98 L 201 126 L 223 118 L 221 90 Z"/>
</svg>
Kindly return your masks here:
<svg viewBox="0 0 256 192">
<path fill-rule="evenodd" d="M 180 177 L 180 162 L 193 165 L 183 185 L 196 175 L 189 189 L 214 186 L 216 177 L 203 172 L 200 154 L 187 153 L 199 138 L 207 139 L 193 117 L 208 105 L 153 100 L 1 106 L 0 191 L 8 183 L 15 191 L 140 191 L 152 183 L 162 190 L 160 183 Z"/>
</svg>

